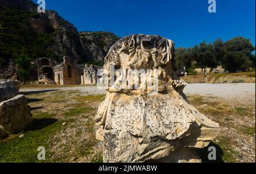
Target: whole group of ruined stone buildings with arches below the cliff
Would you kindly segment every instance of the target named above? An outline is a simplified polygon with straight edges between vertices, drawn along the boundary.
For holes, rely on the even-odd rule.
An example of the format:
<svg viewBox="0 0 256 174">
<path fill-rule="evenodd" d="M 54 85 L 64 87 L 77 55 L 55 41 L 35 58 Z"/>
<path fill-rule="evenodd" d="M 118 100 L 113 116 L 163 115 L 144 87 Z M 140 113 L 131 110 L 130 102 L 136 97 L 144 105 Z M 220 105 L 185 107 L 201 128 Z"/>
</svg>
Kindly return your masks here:
<svg viewBox="0 0 256 174">
<path fill-rule="evenodd" d="M 63 57 L 63 63 L 57 64 L 47 57 L 36 59 L 38 84 L 96 84 L 97 68 L 93 65 L 77 65 L 68 57 Z"/>
</svg>

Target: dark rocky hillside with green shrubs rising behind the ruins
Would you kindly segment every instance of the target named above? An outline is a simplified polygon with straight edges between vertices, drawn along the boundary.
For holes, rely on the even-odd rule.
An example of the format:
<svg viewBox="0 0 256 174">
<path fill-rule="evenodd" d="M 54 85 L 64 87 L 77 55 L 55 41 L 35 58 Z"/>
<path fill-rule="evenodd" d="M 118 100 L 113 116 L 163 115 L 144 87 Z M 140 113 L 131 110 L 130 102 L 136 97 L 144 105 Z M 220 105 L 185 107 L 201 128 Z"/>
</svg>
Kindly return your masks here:
<svg viewBox="0 0 256 174">
<path fill-rule="evenodd" d="M 38 13 L 30 0 L 0 0 L 0 70 L 22 53 L 33 59 L 62 61 L 65 55 L 78 63 L 102 62 L 117 40 L 109 32 L 79 33 L 56 11 Z"/>
</svg>

